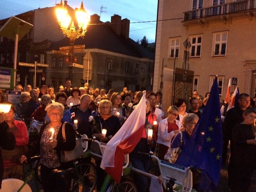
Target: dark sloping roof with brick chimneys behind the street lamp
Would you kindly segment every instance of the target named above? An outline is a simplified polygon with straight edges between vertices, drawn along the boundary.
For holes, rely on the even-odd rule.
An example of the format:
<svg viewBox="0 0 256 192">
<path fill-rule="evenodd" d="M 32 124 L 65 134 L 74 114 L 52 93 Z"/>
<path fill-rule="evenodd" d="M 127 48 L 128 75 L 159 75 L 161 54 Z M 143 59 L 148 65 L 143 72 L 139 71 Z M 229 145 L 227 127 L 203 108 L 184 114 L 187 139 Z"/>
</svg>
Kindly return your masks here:
<svg viewBox="0 0 256 192">
<path fill-rule="evenodd" d="M 102 49 L 139 58 L 154 59 L 154 53 L 137 44 L 131 38 L 117 35 L 111 29 L 111 23 L 88 25 L 84 38 L 75 40 L 75 45 L 85 44 L 86 49 Z M 58 50 L 61 46 L 69 46 L 69 38 L 54 42 L 49 50 Z"/>
</svg>

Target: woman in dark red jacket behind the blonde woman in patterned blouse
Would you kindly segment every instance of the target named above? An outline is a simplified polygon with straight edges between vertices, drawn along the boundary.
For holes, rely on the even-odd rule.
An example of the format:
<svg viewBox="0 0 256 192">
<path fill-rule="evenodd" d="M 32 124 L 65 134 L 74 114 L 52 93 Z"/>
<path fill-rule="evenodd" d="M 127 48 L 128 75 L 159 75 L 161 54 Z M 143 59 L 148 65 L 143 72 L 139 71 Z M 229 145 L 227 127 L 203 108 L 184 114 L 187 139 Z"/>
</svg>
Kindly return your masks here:
<svg viewBox="0 0 256 192">
<path fill-rule="evenodd" d="M 48 117 L 46 117 L 46 111 L 45 108 L 47 105 L 49 105 L 51 103 L 51 96 L 50 95 L 43 95 L 41 97 L 41 102 L 43 103 L 43 105 L 40 105 L 30 116 L 31 118 L 34 118 L 35 120 L 39 121 L 39 122 L 44 122 L 46 120 L 46 118 L 48 119 Z M 49 120 L 47 121 L 49 122 Z"/>
</svg>

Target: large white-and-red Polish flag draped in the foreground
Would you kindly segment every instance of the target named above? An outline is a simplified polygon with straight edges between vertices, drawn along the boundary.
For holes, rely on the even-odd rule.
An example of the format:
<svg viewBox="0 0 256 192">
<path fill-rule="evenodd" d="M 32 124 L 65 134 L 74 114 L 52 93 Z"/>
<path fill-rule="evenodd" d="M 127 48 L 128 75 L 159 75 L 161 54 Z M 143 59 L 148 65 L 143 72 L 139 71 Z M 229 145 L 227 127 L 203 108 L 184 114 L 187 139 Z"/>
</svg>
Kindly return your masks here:
<svg viewBox="0 0 256 192">
<path fill-rule="evenodd" d="M 121 181 L 124 155 L 133 151 L 144 131 L 146 120 L 145 93 L 120 130 L 107 143 L 104 150 L 100 167 L 105 169 L 117 183 Z"/>
</svg>

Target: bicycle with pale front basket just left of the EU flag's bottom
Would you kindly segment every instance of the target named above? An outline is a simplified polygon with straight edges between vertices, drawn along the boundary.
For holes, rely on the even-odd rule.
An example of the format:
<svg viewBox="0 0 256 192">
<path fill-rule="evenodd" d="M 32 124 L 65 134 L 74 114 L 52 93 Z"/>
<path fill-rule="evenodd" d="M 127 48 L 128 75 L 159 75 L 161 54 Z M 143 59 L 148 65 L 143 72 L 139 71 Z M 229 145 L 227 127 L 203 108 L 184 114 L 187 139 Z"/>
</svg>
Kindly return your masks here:
<svg viewBox="0 0 256 192">
<path fill-rule="evenodd" d="M 158 157 L 153 155 L 153 152 L 140 154 L 154 158 L 159 167 L 160 176 L 159 180 L 162 183 L 163 190 L 168 192 L 191 192 L 196 191 L 193 187 L 192 172 L 201 173 L 203 170 L 194 166 L 182 167 L 167 161 L 159 160 Z M 132 171 L 151 178 L 152 174 L 143 172 L 139 169 L 132 168 Z"/>
</svg>

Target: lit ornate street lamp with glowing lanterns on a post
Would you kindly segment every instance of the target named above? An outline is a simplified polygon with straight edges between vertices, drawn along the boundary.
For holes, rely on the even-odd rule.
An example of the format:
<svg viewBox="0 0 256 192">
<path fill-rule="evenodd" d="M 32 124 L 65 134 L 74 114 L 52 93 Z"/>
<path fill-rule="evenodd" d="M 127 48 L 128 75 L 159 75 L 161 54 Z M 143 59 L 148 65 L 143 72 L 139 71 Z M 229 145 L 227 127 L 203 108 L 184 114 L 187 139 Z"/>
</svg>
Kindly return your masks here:
<svg viewBox="0 0 256 192">
<path fill-rule="evenodd" d="M 73 53 L 74 53 L 74 43 L 75 39 L 79 37 L 85 36 L 87 31 L 87 24 L 88 24 L 88 16 L 86 11 L 84 10 L 83 2 L 81 3 L 80 8 L 75 8 L 76 19 L 78 22 L 78 30 L 74 25 L 74 21 L 72 21 L 71 25 L 71 17 L 68 14 L 68 10 L 66 6 L 64 6 L 62 0 L 60 4 L 56 6 L 56 15 L 57 15 L 57 22 L 59 24 L 60 31 L 63 32 L 64 36 L 69 38 L 69 80 L 72 81 L 72 70 L 73 70 Z M 70 26 L 69 26 L 70 25 Z M 68 29 L 69 28 L 69 29 Z"/>
</svg>

